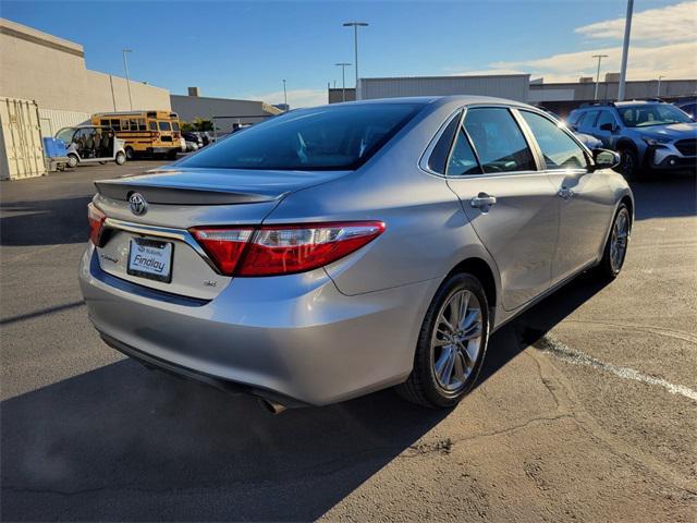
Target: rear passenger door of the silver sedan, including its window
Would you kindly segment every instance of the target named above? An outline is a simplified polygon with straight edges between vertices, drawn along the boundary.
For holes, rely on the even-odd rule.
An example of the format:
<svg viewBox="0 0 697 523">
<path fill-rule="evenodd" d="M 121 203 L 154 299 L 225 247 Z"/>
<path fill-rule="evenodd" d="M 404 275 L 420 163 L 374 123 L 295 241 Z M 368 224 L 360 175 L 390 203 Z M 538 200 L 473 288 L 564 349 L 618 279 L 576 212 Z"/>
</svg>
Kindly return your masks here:
<svg viewBox="0 0 697 523">
<path fill-rule="evenodd" d="M 554 186 L 516 118 L 508 108 L 467 109 L 448 163 L 448 184 L 496 260 L 506 311 L 550 287 L 559 226 Z"/>
</svg>

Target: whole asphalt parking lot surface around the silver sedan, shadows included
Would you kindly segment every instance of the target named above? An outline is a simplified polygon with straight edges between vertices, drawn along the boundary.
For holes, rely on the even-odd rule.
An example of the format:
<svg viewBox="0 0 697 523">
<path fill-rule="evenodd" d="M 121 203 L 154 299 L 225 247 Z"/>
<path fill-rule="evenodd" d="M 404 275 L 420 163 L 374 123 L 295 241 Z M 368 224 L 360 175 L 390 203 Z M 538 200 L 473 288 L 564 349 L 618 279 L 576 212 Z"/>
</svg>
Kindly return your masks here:
<svg viewBox="0 0 697 523">
<path fill-rule="evenodd" d="M 383 391 L 272 416 L 151 373 L 88 324 L 76 282 L 94 180 L 1 192 L 4 521 L 695 521 L 695 177 L 636 185 L 625 268 L 491 338 L 454 411 Z"/>
</svg>

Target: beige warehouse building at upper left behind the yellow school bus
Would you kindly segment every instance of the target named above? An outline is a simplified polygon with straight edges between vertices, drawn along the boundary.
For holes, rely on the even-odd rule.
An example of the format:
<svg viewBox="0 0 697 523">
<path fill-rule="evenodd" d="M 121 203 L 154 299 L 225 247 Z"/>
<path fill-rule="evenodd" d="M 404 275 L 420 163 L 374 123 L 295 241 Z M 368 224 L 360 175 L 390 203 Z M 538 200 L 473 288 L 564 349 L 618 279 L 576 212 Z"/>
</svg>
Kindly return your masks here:
<svg viewBox="0 0 697 523">
<path fill-rule="evenodd" d="M 95 112 L 131 109 L 126 80 L 87 69 L 83 46 L 5 19 L 0 19 L 0 96 L 35 100 L 45 136 Z M 168 89 L 130 84 L 134 110 L 171 109 Z"/>
</svg>

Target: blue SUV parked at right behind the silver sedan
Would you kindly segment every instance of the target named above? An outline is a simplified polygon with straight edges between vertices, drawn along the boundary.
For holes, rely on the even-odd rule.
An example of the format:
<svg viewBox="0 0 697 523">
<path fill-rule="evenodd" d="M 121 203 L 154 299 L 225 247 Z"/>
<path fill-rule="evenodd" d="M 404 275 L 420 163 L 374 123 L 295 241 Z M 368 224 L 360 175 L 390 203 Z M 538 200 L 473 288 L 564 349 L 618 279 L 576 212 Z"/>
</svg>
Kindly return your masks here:
<svg viewBox="0 0 697 523">
<path fill-rule="evenodd" d="M 697 168 L 697 123 L 660 100 L 594 102 L 573 110 L 568 124 L 600 139 L 622 158 L 621 172 L 636 179 L 648 171 Z"/>
</svg>

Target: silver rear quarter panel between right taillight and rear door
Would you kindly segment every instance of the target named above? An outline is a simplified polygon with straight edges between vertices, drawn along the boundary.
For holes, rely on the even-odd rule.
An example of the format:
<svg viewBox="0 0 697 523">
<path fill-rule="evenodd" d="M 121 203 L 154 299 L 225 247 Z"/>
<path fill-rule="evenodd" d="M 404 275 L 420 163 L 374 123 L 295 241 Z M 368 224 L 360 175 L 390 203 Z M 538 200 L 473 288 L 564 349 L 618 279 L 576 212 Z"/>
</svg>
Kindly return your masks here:
<svg viewBox="0 0 697 523">
<path fill-rule="evenodd" d="M 442 279 L 467 257 L 492 260 L 445 180 L 418 160 L 456 106 L 423 112 L 357 171 L 283 199 L 265 223 L 381 220 L 386 231 L 327 271 L 345 294 Z"/>
</svg>

